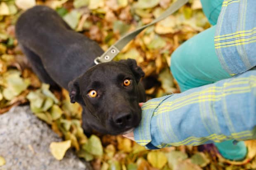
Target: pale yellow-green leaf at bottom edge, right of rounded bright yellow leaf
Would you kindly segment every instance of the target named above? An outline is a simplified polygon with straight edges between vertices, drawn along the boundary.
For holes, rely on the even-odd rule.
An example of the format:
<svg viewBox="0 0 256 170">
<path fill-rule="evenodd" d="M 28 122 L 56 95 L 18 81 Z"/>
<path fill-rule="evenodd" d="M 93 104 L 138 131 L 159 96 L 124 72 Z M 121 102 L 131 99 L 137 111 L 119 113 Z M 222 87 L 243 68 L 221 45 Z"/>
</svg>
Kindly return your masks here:
<svg viewBox="0 0 256 170">
<path fill-rule="evenodd" d="M 181 151 L 170 151 L 166 154 L 168 165 L 171 169 L 175 169 L 178 163 L 187 158 L 187 154 Z"/>
</svg>

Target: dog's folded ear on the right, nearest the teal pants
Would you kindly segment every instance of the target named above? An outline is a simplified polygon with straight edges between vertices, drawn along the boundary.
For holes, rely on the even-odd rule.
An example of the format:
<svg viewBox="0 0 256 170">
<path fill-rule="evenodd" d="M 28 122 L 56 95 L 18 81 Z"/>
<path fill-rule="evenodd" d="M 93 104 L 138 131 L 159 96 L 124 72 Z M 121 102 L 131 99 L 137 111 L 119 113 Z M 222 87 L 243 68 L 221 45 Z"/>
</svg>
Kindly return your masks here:
<svg viewBox="0 0 256 170">
<path fill-rule="evenodd" d="M 120 60 L 119 62 L 125 63 L 132 70 L 133 75 L 135 76 L 136 82 L 140 82 L 140 78 L 145 76 L 143 70 L 137 65 L 136 60 L 128 58 L 127 60 Z"/>
</svg>

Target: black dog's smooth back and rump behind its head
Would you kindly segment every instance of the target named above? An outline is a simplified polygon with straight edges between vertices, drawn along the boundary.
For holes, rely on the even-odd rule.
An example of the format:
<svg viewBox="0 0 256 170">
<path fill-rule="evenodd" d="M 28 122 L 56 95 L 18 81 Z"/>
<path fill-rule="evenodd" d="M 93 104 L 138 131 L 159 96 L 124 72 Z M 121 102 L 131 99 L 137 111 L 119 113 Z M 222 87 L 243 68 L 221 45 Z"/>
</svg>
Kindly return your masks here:
<svg viewBox="0 0 256 170">
<path fill-rule="evenodd" d="M 57 12 L 46 6 L 36 6 L 21 14 L 15 31 L 28 59 L 40 58 L 46 72 L 64 88 L 103 53 L 96 42 L 71 30 Z"/>
</svg>

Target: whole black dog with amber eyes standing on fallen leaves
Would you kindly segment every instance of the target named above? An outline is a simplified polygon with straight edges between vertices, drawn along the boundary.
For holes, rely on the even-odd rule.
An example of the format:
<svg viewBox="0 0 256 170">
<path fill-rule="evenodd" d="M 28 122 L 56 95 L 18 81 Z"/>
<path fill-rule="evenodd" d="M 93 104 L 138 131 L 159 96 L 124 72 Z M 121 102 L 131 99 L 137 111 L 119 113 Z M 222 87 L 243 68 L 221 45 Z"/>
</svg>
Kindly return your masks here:
<svg viewBox="0 0 256 170">
<path fill-rule="evenodd" d="M 69 90 L 83 107 L 85 133 L 123 134 L 138 126 L 145 101 L 144 72 L 132 59 L 94 64 L 100 46 L 71 30 L 52 9 L 36 6 L 21 14 L 16 37 L 41 81 Z"/>
</svg>

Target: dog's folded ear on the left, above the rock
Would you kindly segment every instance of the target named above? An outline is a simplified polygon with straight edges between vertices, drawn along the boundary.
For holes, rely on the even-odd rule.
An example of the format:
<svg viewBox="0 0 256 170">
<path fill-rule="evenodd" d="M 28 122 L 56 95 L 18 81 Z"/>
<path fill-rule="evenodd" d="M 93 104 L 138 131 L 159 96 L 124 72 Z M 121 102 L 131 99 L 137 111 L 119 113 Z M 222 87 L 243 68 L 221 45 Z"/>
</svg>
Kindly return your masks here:
<svg viewBox="0 0 256 170">
<path fill-rule="evenodd" d="M 81 102 L 82 98 L 80 95 L 80 87 L 79 87 L 79 78 L 73 79 L 71 82 L 68 84 L 69 88 L 69 97 L 70 97 L 70 102 Z"/>
</svg>

